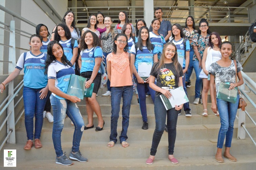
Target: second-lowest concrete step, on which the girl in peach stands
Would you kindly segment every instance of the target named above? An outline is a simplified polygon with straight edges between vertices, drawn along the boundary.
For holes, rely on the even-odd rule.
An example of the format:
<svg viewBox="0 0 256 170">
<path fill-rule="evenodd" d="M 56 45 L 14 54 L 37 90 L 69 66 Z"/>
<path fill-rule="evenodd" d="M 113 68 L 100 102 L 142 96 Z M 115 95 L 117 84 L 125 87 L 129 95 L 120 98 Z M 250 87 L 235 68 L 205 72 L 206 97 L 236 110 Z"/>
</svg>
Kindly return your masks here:
<svg viewBox="0 0 256 170">
<path fill-rule="evenodd" d="M 111 155 L 111 159 L 119 159 L 120 155 L 124 152 L 122 145 L 117 142 L 114 147 L 107 147 L 108 142 L 80 142 L 80 151 L 88 160 L 90 159 L 108 159 Z M 129 142 L 130 146 L 125 148 L 126 154 L 122 156 L 122 159 L 140 159 L 147 158 L 150 154 L 152 141 L 137 141 Z M 55 150 L 52 142 L 42 142 L 42 148 L 34 148 L 31 150 L 23 149 L 25 143 L 18 143 L 16 145 L 8 144 L 8 149 L 16 149 L 17 158 L 23 160 L 32 159 L 49 159 L 54 160 Z M 212 156 L 216 152 L 217 140 L 176 140 L 174 155 L 178 158 L 184 157 L 200 157 L 200 156 Z M 69 156 L 72 141 L 61 142 L 63 152 L 66 151 Z M 223 150 L 224 151 L 224 150 Z M 248 155 L 255 154 L 256 148 L 250 139 L 247 140 L 232 140 L 232 155 Z M 39 154 L 40 153 L 40 154 Z M 161 140 L 157 148 L 157 158 L 166 158 L 168 155 L 168 140 Z M 45 158 L 46 157 L 46 158 Z"/>
</svg>

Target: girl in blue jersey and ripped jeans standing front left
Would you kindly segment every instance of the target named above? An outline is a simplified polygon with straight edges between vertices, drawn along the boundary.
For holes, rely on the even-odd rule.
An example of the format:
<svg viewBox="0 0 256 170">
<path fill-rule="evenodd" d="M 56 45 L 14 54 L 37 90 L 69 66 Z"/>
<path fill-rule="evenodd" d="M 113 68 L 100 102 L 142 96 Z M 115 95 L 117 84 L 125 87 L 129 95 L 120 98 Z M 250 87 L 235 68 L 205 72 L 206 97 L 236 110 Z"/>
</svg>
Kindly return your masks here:
<svg viewBox="0 0 256 170">
<path fill-rule="evenodd" d="M 58 41 L 51 41 L 47 49 L 45 74 L 48 75 L 49 90 L 52 92 L 50 99 L 53 108 L 52 140 L 56 152 L 56 164 L 72 165 L 73 162 L 63 154 L 61 148 L 61 132 L 64 127 L 66 114 L 74 123 L 73 146 L 69 158 L 79 162 L 86 162 L 79 151 L 79 145 L 84 130 L 84 122 L 76 102 L 81 99 L 67 93 L 70 75 L 75 74 L 72 64 L 63 53 L 63 47 Z"/>
</svg>

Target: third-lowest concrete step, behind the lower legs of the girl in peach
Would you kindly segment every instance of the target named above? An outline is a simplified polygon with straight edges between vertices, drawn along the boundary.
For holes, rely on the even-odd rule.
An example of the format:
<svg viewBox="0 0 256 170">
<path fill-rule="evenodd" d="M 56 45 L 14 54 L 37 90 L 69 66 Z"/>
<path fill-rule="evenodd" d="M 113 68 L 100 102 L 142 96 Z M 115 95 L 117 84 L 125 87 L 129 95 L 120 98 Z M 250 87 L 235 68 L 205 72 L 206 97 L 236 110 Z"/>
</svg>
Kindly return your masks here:
<svg viewBox="0 0 256 170">
<path fill-rule="evenodd" d="M 148 130 L 143 130 L 140 126 L 129 126 L 127 142 L 132 141 L 151 141 L 155 130 L 155 124 L 149 124 Z M 234 135 L 236 138 L 238 124 L 234 125 Z M 253 137 L 256 137 L 256 127 L 254 124 L 246 124 L 246 128 L 250 130 Z M 214 140 L 217 139 L 220 129 L 220 124 L 211 125 L 178 125 L 176 140 Z M 118 135 L 121 134 L 122 127 L 118 126 Z M 73 138 L 74 127 L 64 127 L 61 133 L 61 141 L 69 142 Z M 18 142 L 27 141 L 27 133 L 25 128 L 16 129 L 16 138 Z M 96 132 L 95 129 L 85 130 L 82 135 L 82 141 L 109 141 L 110 127 L 104 127 L 102 131 Z M 167 140 L 167 133 L 163 133 L 162 139 Z M 52 128 L 43 128 L 41 133 L 42 142 L 52 142 Z"/>
</svg>

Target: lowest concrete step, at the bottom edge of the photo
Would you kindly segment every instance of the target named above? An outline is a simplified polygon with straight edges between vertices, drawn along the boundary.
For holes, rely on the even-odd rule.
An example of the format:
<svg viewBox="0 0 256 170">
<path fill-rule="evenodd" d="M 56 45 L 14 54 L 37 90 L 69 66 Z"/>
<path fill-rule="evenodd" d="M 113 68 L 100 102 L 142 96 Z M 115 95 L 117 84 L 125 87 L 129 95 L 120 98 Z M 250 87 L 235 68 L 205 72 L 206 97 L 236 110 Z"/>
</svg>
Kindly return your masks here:
<svg viewBox="0 0 256 170">
<path fill-rule="evenodd" d="M 167 152 L 167 151 L 166 151 Z M 148 157 L 141 159 L 89 159 L 88 162 L 74 161 L 72 166 L 63 166 L 55 163 L 54 159 L 33 159 L 33 160 L 17 160 L 17 167 L 19 170 L 73 170 L 73 169 L 86 169 L 86 170 L 252 170 L 256 166 L 256 155 L 235 155 L 237 162 L 231 162 L 224 158 L 224 163 L 215 161 L 214 152 L 211 156 L 196 156 L 187 157 L 183 154 L 182 157 L 176 157 L 179 161 L 178 164 L 172 164 L 168 157 L 158 158 L 156 156 L 152 165 L 147 165 L 145 162 Z M 0 162 L 3 167 L 3 161 Z M 8 167 L 8 170 L 17 170 L 17 167 Z M 7 169 L 7 168 L 6 168 Z"/>
</svg>

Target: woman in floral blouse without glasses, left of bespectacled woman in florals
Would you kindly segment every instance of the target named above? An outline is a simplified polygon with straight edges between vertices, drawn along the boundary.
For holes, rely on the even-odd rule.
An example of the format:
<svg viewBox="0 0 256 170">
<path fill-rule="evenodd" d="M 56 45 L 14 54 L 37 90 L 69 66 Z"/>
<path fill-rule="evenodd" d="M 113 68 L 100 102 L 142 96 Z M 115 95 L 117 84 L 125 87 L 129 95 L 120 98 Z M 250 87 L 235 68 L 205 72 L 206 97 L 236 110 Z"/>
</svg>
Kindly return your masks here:
<svg viewBox="0 0 256 170">
<path fill-rule="evenodd" d="M 194 49 L 191 45 L 193 36 L 197 33 L 196 26 L 195 26 L 195 20 L 193 16 L 188 15 L 185 23 L 185 28 L 183 28 L 183 33 L 185 34 L 185 38 L 189 40 L 190 44 L 190 51 L 189 51 L 189 66 L 187 69 L 187 74 L 185 78 L 185 83 L 187 87 L 191 86 L 190 76 L 193 72 L 193 56 L 194 56 Z"/>
</svg>

